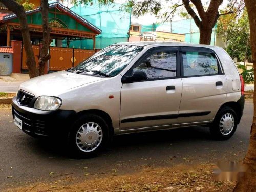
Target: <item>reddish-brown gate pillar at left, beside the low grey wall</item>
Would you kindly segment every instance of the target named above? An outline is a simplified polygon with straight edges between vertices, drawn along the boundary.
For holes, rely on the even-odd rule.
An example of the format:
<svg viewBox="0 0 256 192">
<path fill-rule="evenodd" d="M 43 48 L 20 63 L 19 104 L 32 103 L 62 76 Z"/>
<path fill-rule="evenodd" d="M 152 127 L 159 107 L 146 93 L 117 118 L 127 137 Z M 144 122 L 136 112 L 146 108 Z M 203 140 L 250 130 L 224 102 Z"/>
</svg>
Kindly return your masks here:
<svg viewBox="0 0 256 192">
<path fill-rule="evenodd" d="M 12 40 L 13 49 L 12 73 L 22 73 L 22 41 Z"/>
</svg>

